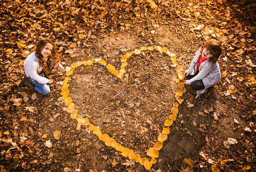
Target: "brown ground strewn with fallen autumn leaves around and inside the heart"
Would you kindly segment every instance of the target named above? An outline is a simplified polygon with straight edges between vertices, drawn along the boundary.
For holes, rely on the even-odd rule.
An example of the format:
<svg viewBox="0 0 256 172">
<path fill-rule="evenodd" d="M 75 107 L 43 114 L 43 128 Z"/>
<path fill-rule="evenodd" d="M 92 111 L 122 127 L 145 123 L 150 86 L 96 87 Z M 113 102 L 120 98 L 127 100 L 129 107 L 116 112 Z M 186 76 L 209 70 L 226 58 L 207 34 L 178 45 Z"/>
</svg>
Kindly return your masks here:
<svg viewBox="0 0 256 172">
<path fill-rule="evenodd" d="M 185 70 L 204 42 L 220 40 L 222 80 L 199 102 L 185 87 L 151 170 L 256 169 L 253 1 L 3 1 L 0 8 L 1 171 L 147 171 L 70 118 L 60 95 L 65 72 L 48 76 L 55 82 L 47 96 L 18 88 L 23 61 L 42 37 L 55 40 L 65 67 L 102 58 L 118 69 L 122 55 L 160 46 Z M 176 68 L 155 50 L 127 60 L 122 79 L 99 63 L 81 65 L 69 96 L 103 133 L 150 158 L 177 101 Z"/>
</svg>

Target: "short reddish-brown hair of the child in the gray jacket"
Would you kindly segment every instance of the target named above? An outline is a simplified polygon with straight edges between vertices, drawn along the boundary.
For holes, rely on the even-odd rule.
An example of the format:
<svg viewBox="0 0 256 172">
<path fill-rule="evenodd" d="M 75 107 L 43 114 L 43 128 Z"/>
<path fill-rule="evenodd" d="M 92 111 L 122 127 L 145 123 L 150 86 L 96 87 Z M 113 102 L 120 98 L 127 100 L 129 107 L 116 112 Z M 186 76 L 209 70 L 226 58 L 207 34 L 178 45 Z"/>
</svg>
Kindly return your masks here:
<svg viewBox="0 0 256 172">
<path fill-rule="evenodd" d="M 202 50 L 205 48 L 208 49 L 208 51 L 212 55 L 212 58 L 209 58 L 209 61 L 212 63 L 216 63 L 223 52 L 221 42 L 218 40 L 210 40 L 202 46 Z"/>
</svg>

